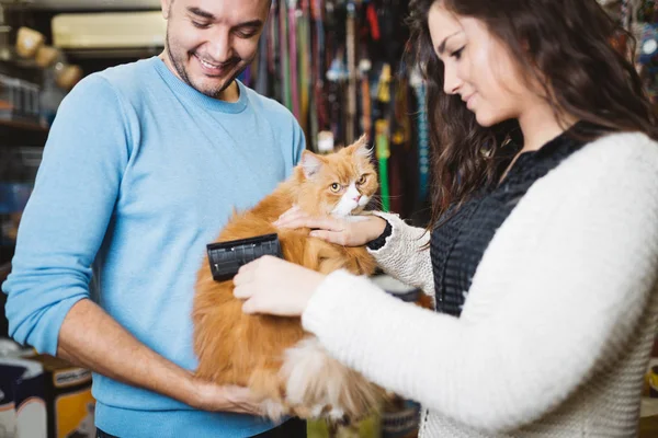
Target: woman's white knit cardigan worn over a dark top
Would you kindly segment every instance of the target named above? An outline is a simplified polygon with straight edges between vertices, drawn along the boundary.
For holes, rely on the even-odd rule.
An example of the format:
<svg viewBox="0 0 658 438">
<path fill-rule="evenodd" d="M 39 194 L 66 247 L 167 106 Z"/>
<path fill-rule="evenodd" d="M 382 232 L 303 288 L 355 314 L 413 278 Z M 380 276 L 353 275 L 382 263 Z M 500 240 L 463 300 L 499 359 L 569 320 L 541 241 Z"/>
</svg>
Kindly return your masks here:
<svg viewBox="0 0 658 438">
<path fill-rule="evenodd" d="M 378 262 L 433 291 L 420 250 L 428 235 L 388 219 Z M 658 143 L 615 134 L 527 191 L 485 252 L 460 319 L 337 272 L 303 323 L 336 358 L 421 402 L 421 437 L 631 437 L 657 274 Z"/>
</svg>

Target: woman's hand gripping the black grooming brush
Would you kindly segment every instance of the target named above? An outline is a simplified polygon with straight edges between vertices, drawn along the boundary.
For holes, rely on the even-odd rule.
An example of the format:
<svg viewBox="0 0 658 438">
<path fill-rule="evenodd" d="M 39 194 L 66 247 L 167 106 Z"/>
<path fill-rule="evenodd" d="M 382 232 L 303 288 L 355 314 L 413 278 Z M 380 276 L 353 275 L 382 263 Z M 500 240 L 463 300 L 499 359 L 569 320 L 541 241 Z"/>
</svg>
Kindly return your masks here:
<svg viewBox="0 0 658 438">
<path fill-rule="evenodd" d="M 240 267 L 234 296 L 245 313 L 300 316 L 325 276 L 271 255 Z"/>
</svg>

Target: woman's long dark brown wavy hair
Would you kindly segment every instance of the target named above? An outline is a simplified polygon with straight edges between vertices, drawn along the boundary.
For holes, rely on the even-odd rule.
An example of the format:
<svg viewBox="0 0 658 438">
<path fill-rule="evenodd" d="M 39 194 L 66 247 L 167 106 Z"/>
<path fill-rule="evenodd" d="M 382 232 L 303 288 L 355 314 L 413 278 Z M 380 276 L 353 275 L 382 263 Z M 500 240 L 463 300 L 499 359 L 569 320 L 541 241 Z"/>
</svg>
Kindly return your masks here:
<svg viewBox="0 0 658 438">
<path fill-rule="evenodd" d="M 566 113 L 602 127 L 585 132 L 585 140 L 603 131 L 642 131 L 658 138 L 655 110 L 640 79 L 612 44 L 617 35 L 625 35 L 633 46 L 635 42 L 595 0 L 411 0 L 411 55 L 427 82 L 431 126 L 430 228 L 451 206 L 498 181 L 501 143 L 519 130 L 515 120 L 479 126 L 458 95 L 443 91 L 443 62 L 428 28 L 428 12 L 435 1 L 460 16 L 483 21 L 519 60 L 522 73 L 553 96 L 546 99 L 558 120 Z"/>
</svg>

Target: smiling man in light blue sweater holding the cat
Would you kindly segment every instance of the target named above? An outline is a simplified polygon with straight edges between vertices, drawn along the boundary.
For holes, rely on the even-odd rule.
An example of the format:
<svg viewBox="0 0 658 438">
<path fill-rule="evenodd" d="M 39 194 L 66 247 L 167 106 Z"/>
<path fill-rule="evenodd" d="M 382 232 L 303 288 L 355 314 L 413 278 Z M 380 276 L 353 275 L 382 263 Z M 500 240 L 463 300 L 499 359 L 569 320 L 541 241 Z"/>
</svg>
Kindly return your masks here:
<svg viewBox="0 0 658 438">
<path fill-rule="evenodd" d="M 248 390 L 192 376 L 190 316 L 206 243 L 304 149 L 290 112 L 236 80 L 269 8 L 162 0 L 164 51 L 82 80 L 52 127 L 3 285 L 7 314 L 20 343 L 94 371 L 99 436 L 274 427 L 245 415 L 260 402 Z M 266 434 L 305 436 L 304 423 Z"/>
</svg>

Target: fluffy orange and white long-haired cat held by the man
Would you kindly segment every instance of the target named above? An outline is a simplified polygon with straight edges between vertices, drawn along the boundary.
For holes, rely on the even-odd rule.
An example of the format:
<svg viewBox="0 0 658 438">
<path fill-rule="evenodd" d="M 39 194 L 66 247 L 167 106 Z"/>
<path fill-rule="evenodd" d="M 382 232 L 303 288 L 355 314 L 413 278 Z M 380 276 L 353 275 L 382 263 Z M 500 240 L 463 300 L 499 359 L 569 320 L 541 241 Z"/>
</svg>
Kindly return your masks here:
<svg viewBox="0 0 658 438">
<path fill-rule="evenodd" d="M 293 175 L 254 208 L 236 214 L 217 241 L 277 233 L 285 260 L 328 274 L 344 268 L 371 275 L 375 261 L 364 247 L 309 238 L 309 229 L 276 229 L 279 216 L 296 205 L 310 215 L 348 217 L 363 210 L 377 189 L 365 136 L 328 155 L 304 151 Z M 263 415 L 358 419 L 383 392 L 331 358 L 300 320 L 243 314 L 231 280 L 213 280 L 207 257 L 194 298 L 196 376 L 217 384 L 249 387 L 265 397 Z"/>
</svg>

